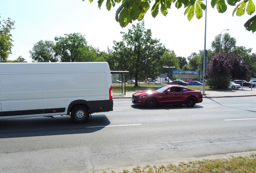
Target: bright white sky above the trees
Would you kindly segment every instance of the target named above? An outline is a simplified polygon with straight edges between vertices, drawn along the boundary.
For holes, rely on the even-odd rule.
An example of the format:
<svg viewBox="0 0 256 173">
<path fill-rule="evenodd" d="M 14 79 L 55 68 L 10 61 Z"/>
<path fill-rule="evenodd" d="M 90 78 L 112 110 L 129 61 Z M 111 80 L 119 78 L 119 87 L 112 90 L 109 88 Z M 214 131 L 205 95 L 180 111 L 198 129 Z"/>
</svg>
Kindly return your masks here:
<svg viewBox="0 0 256 173">
<path fill-rule="evenodd" d="M 100 10 L 97 0 L 91 4 L 88 0 L 0 0 L 0 20 L 8 17 L 15 20 L 15 29 L 11 32 L 14 46 L 8 59 L 22 56 L 31 62 L 29 50 L 39 40 L 54 41 L 55 36 L 74 32 L 85 35 L 89 45 L 107 51 L 107 46 L 112 48 L 114 40 L 122 40 L 120 32 L 128 32 L 132 24 L 121 28 L 115 20 L 116 9 L 120 4 L 108 12 L 105 2 Z M 233 6 L 228 6 L 227 12 L 219 14 L 216 8 L 211 7 L 211 0 L 207 3 L 206 49 L 211 49 L 211 42 L 216 35 L 229 29 L 222 34 L 228 32 L 237 40 L 237 46 L 252 48 L 255 53 L 256 34 L 246 31 L 244 27 L 244 23 L 252 16 L 244 14 L 233 17 Z M 151 29 L 153 38 L 160 39 L 177 56 L 187 58 L 192 52 L 198 53 L 204 49 L 205 12 L 203 15 L 200 20 L 194 16 L 189 22 L 184 16 L 184 9 L 177 10 L 172 4 L 166 17 L 159 12 L 153 18 L 149 10 L 144 17 L 145 28 Z"/>
</svg>

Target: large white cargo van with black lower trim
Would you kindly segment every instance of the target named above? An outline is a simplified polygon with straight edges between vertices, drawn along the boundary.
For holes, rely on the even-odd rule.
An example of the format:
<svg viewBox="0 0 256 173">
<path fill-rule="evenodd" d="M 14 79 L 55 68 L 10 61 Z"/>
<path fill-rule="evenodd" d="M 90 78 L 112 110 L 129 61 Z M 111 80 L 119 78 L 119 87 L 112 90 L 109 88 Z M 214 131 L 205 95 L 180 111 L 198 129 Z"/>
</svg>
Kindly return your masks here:
<svg viewBox="0 0 256 173">
<path fill-rule="evenodd" d="M 99 82 L 99 80 L 101 79 Z M 0 63 L 0 119 L 113 111 L 107 62 Z"/>
</svg>

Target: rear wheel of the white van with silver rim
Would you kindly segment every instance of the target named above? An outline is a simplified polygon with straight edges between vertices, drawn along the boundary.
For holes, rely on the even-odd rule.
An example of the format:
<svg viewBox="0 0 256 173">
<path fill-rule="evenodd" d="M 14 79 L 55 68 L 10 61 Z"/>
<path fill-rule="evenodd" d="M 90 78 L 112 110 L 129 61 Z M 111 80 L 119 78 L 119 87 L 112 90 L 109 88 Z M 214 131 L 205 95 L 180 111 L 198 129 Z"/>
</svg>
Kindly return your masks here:
<svg viewBox="0 0 256 173">
<path fill-rule="evenodd" d="M 89 110 L 84 106 L 74 107 L 71 111 L 71 119 L 74 123 L 85 123 L 89 118 Z"/>
</svg>

